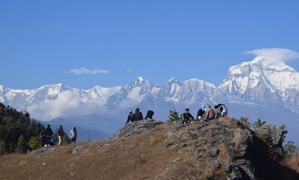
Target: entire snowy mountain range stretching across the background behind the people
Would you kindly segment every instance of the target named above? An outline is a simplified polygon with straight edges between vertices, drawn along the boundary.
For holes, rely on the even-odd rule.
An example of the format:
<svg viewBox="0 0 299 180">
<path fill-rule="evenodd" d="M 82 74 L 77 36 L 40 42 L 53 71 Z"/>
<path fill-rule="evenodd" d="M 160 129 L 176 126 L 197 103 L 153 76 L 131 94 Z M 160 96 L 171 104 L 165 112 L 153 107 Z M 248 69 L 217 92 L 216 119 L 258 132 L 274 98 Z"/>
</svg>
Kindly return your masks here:
<svg viewBox="0 0 299 180">
<path fill-rule="evenodd" d="M 293 68 L 262 57 L 229 68 L 218 87 L 203 80 L 180 82 L 175 78 L 165 86 L 158 86 L 138 77 L 124 87 L 95 86 L 90 90 L 63 84 L 32 90 L 0 86 L 0 101 L 28 111 L 32 118 L 46 121 L 61 117 L 76 124 L 77 129 L 96 130 L 108 137 L 126 122 L 130 109 L 138 107 L 144 117 L 147 110 L 153 110 L 154 119 L 166 121 L 170 110 L 176 109 L 180 114 L 189 108 L 196 116 L 202 104 L 223 103 L 228 117 L 244 116 L 252 122 L 259 118 L 277 126 L 285 124 L 289 130 L 286 139 L 297 142 L 298 82 L 299 73 Z"/>
</svg>

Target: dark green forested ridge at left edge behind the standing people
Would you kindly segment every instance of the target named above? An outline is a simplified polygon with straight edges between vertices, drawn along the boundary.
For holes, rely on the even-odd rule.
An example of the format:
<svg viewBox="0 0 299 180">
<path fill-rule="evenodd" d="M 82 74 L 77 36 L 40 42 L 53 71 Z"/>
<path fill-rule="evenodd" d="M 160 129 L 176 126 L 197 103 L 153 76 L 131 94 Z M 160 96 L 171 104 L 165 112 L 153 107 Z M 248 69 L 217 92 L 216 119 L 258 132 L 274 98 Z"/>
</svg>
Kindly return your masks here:
<svg viewBox="0 0 299 180">
<path fill-rule="evenodd" d="M 41 147 L 39 133 L 45 127 L 29 117 L 28 112 L 18 112 L 0 102 L 0 155 Z"/>
</svg>

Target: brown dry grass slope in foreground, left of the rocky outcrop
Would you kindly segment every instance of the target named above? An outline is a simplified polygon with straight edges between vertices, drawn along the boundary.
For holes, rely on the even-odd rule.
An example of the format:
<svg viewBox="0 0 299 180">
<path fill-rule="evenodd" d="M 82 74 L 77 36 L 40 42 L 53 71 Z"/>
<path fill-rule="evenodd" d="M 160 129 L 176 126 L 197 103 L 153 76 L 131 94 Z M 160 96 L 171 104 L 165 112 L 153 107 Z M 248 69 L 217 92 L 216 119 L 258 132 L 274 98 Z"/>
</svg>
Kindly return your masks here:
<svg viewBox="0 0 299 180">
<path fill-rule="evenodd" d="M 161 126 L 166 128 L 137 135 L 135 138 L 80 142 L 55 147 L 52 152 L 51 149 L 47 150 L 51 153 L 44 156 L 41 154 L 45 152 L 37 155 L 3 155 L 0 158 L 0 177 L 109 180 L 205 177 L 210 159 L 197 159 L 193 147 L 189 146 L 179 150 L 175 146 L 164 148 L 162 145 L 168 140 L 169 125 L 165 123 Z M 71 150 L 78 146 L 85 146 L 85 149 L 71 153 Z M 22 161 L 26 161 L 25 164 L 19 165 Z"/>
</svg>

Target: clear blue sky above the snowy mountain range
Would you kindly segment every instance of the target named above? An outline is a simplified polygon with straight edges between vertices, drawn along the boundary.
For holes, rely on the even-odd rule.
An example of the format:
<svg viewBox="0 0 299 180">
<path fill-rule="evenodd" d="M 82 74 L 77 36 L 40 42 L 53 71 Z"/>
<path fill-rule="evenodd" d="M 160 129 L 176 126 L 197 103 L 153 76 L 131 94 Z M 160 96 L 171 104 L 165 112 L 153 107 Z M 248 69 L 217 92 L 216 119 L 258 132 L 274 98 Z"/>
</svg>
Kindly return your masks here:
<svg viewBox="0 0 299 180">
<path fill-rule="evenodd" d="M 175 77 L 218 86 L 231 66 L 254 59 L 242 52 L 299 52 L 298 7 L 299 1 L 3 0 L 0 85 L 87 90 L 136 77 L 163 86 Z M 286 64 L 299 71 L 298 60 Z"/>
</svg>

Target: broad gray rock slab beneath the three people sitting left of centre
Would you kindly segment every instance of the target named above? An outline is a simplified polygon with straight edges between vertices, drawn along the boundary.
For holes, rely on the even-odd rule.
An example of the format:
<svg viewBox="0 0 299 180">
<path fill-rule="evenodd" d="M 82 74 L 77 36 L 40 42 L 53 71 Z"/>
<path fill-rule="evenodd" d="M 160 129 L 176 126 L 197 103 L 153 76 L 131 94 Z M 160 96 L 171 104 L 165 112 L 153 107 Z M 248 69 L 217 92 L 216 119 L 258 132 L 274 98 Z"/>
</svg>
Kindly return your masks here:
<svg viewBox="0 0 299 180">
<path fill-rule="evenodd" d="M 113 135 L 112 138 L 119 139 L 119 138 L 125 138 L 127 136 L 137 135 L 141 134 L 143 132 L 150 132 L 150 131 L 158 131 L 164 129 L 164 127 L 156 127 L 163 122 L 154 119 L 144 119 L 144 120 L 138 120 L 126 125 L 121 126 L 117 132 Z"/>
</svg>

